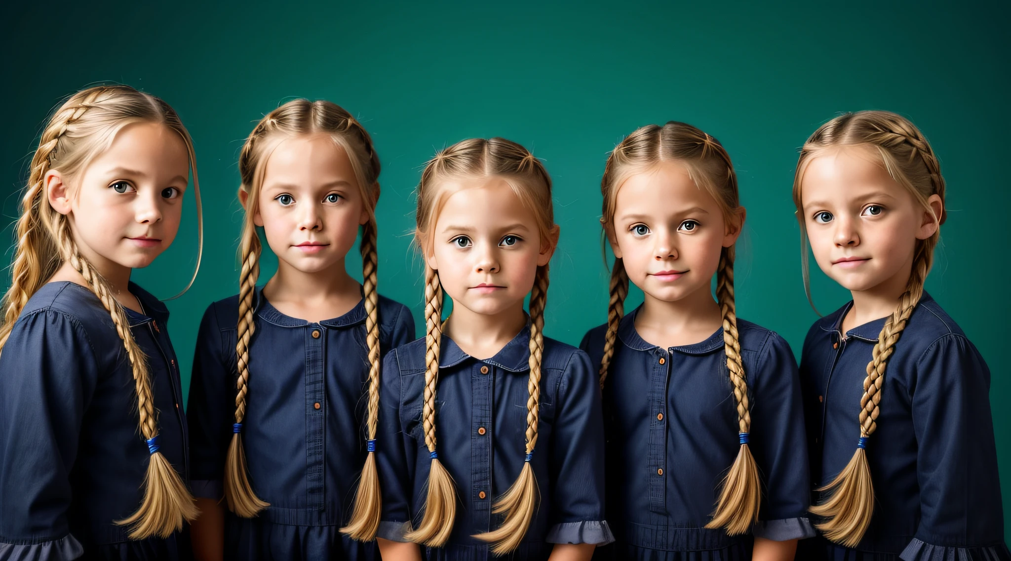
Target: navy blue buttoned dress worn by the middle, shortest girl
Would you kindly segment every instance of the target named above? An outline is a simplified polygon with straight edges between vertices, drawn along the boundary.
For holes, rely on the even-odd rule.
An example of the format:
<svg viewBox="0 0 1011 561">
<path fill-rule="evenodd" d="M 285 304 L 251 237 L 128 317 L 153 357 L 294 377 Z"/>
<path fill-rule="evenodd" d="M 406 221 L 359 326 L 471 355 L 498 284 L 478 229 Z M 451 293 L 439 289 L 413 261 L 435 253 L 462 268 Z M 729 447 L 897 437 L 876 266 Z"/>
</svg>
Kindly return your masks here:
<svg viewBox="0 0 1011 561">
<path fill-rule="evenodd" d="M 436 396 L 437 452 L 456 483 L 457 511 L 449 542 L 426 549 L 430 560 L 492 559 L 471 536 L 500 524 L 491 513 L 523 468 L 526 452 L 530 329 L 494 357 L 477 360 L 443 337 Z M 382 481 L 379 537 L 405 541 L 421 521 L 432 460 L 422 408 L 425 339 L 390 353 L 383 363 L 379 439 Z M 601 395 L 589 359 L 574 347 L 544 339 L 540 423 L 531 460 L 540 504 L 520 547 L 502 559 L 547 559 L 554 544 L 613 540 L 604 522 L 604 436 Z"/>
</svg>

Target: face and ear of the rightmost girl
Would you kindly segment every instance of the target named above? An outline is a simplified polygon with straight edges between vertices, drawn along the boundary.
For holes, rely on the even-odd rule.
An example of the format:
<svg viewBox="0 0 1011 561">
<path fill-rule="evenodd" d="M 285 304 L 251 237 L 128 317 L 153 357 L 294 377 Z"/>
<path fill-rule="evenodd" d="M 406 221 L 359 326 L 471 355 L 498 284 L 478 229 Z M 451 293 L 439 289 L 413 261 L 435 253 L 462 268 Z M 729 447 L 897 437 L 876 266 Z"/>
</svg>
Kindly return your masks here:
<svg viewBox="0 0 1011 561">
<path fill-rule="evenodd" d="M 813 158 L 801 178 L 801 201 L 818 266 L 851 291 L 889 281 L 905 286 L 916 241 L 937 230 L 934 215 L 864 147 Z M 940 197 L 928 202 L 940 211 Z"/>
</svg>

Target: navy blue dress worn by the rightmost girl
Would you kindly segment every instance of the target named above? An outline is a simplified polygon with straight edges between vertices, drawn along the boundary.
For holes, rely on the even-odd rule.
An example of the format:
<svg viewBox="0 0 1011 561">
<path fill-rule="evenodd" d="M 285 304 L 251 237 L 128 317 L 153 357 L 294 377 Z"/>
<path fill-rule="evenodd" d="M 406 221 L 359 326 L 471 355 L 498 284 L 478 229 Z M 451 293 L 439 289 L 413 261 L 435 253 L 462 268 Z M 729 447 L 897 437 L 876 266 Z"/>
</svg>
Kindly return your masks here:
<svg viewBox="0 0 1011 561">
<path fill-rule="evenodd" d="M 804 342 L 813 488 L 831 482 L 856 450 L 866 366 L 886 321 L 843 337 L 851 305 L 816 321 Z M 989 392 L 987 363 L 924 293 L 889 359 L 878 429 L 866 446 L 875 485 L 870 527 L 856 548 L 818 538 L 803 543 L 801 553 L 863 561 L 1011 559 Z M 818 499 L 815 491 L 812 500 Z"/>
</svg>

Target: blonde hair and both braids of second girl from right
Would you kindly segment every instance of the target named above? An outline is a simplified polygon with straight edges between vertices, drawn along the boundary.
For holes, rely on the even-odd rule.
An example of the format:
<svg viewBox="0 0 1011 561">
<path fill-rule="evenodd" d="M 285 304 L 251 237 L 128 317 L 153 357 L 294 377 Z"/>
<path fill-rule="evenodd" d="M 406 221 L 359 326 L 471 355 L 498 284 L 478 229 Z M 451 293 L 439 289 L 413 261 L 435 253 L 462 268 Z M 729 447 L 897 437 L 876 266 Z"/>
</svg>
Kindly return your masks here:
<svg viewBox="0 0 1011 561">
<path fill-rule="evenodd" d="M 666 161 L 683 164 L 696 184 L 704 187 L 720 204 L 724 218 L 737 220 L 734 214 L 740 206 L 737 175 L 734 173 L 730 155 L 716 138 L 699 128 L 683 122 L 669 121 L 663 126 L 650 124 L 638 128 L 626 136 L 608 158 L 601 180 L 601 193 L 604 195 L 601 223 L 607 239 L 612 241 L 616 239 L 614 221 L 618 191 L 621 186 L 633 175 Z M 706 528 L 725 528 L 728 534 L 736 535 L 748 532 L 758 520 L 761 481 L 758 476 L 758 466 L 748 447 L 751 411 L 747 377 L 741 361 L 741 346 L 737 333 L 733 246 L 723 249 L 716 276 L 716 296 L 723 316 L 724 353 L 727 356 L 727 370 L 737 402 L 738 440 L 741 446 L 737 458 L 723 480 L 713 520 L 706 525 Z M 615 259 L 611 273 L 604 360 L 601 363 L 602 388 L 615 353 L 618 325 L 624 312 L 624 300 L 628 295 L 628 282 L 622 260 Z"/>
</svg>

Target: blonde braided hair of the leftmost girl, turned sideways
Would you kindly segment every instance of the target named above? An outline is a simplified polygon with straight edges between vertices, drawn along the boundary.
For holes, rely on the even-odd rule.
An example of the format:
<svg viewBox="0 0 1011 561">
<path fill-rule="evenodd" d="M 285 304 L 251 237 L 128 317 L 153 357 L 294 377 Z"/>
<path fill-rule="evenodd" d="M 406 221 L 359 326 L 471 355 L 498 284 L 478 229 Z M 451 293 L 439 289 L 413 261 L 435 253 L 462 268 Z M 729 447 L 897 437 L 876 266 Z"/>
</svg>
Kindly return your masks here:
<svg viewBox="0 0 1011 561">
<path fill-rule="evenodd" d="M 11 285 L 4 296 L 4 321 L 0 326 L 2 350 L 28 300 L 64 263 L 70 263 L 84 278 L 88 288 L 109 313 L 129 359 L 137 394 L 139 426 L 150 452 L 141 505 L 126 519 L 115 521 L 117 525 L 130 526 L 129 537 L 133 540 L 153 536 L 166 538 L 182 530 L 184 521 L 194 520 L 197 508 L 179 473 L 158 451 L 158 416 L 151 375 L 147 358 L 129 329 L 126 313 L 115 299 L 109 283 L 78 251 L 68 217 L 50 206 L 44 181 L 50 170 L 60 171 L 72 180 L 96 156 L 108 150 L 116 132 L 139 122 L 164 124 L 180 135 L 193 173 L 200 222 L 199 182 L 193 142 L 172 107 L 151 94 L 128 86 L 96 86 L 72 95 L 50 118 L 32 157 L 27 189 L 21 200 L 21 215 L 17 220 L 17 249 L 11 267 Z M 198 231 L 202 249 L 202 224 Z M 193 278 L 195 276 L 194 271 Z M 189 285 L 192 283 L 191 279 Z"/>
</svg>

